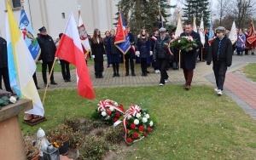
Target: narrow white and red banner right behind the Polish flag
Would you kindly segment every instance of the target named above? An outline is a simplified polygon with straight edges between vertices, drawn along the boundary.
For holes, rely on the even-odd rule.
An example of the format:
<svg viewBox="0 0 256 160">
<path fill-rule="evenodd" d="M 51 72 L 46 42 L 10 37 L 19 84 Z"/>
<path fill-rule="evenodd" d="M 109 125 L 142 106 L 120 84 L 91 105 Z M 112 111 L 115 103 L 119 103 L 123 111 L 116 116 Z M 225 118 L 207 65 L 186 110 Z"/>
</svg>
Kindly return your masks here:
<svg viewBox="0 0 256 160">
<path fill-rule="evenodd" d="M 82 43 L 82 49 L 84 56 L 87 57 L 87 54 L 90 52 L 90 42 L 87 35 L 87 32 L 85 30 L 84 22 L 82 20 L 81 12 L 79 10 L 79 37 Z"/>
</svg>

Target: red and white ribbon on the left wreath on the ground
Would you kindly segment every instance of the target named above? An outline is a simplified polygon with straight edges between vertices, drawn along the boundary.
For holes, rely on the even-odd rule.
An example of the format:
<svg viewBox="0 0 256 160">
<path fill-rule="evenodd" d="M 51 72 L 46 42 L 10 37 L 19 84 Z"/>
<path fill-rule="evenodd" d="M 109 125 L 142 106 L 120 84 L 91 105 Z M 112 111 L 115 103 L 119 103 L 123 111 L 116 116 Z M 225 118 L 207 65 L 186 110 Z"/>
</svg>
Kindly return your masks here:
<svg viewBox="0 0 256 160">
<path fill-rule="evenodd" d="M 101 100 L 98 103 L 98 111 L 106 111 L 107 107 L 113 107 L 113 109 L 119 111 L 122 114 L 125 114 L 125 109 L 122 105 L 119 106 L 119 104 L 116 101 L 113 100 Z"/>
</svg>

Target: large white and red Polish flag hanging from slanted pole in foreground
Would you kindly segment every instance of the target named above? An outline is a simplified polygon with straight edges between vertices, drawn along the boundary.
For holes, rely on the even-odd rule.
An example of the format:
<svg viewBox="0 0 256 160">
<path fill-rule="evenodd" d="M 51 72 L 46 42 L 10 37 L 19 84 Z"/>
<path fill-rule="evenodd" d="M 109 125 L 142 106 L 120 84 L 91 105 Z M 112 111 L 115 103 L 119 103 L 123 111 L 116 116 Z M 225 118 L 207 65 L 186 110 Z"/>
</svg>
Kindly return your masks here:
<svg viewBox="0 0 256 160">
<path fill-rule="evenodd" d="M 67 26 L 63 32 L 55 56 L 59 57 L 61 60 L 67 60 L 69 63 L 76 66 L 79 95 L 87 99 L 94 99 L 95 94 L 92 83 L 90 82 L 89 71 L 85 64 L 79 31 L 73 13 L 70 14 L 67 20 Z"/>
</svg>

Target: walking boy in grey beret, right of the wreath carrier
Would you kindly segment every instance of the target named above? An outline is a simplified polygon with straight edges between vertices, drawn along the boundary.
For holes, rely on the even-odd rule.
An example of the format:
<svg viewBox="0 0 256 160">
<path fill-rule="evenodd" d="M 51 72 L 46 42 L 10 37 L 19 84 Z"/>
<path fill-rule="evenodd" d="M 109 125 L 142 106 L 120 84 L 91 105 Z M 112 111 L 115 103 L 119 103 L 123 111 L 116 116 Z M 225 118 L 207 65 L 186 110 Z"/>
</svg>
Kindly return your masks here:
<svg viewBox="0 0 256 160">
<path fill-rule="evenodd" d="M 222 95 L 227 67 L 232 64 L 232 43 L 230 38 L 225 35 L 225 28 L 218 26 L 216 29 L 217 37 L 212 41 L 212 45 L 207 57 L 207 65 L 213 64 L 212 69 L 215 76 L 218 95 Z"/>
</svg>

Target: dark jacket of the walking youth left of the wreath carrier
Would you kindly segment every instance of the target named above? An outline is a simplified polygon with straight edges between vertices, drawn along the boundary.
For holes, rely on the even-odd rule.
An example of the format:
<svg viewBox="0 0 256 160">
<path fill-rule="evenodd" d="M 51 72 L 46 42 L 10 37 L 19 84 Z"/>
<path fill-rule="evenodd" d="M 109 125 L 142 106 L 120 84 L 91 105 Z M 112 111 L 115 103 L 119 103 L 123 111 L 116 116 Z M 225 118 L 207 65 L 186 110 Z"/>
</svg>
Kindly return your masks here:
<svg viewBox="0 0 256 160">
<path fill-rule="evenodd" d="M 170 59 L 170 54 L 167 51 L 167 45 L 170 43 L 170 41 L 171 38 L 169 35 L 166 35 L 164 40 L 161 40 L 160 37 L 157 37 L 157 40 L 154 43 L 153 60 Z"/>
</svg>

